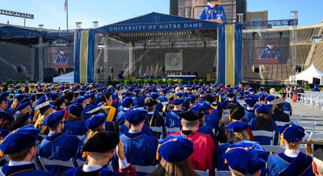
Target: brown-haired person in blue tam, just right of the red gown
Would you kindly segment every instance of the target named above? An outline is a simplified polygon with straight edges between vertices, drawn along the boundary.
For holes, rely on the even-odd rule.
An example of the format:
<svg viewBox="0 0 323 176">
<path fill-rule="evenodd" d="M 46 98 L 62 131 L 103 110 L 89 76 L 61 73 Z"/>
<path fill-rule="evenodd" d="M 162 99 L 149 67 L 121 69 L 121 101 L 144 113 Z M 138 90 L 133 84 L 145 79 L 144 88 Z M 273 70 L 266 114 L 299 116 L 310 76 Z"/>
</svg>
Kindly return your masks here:
<svg viewBox="0 0 323 176">
<path fill-rule="evenodd" d="M 233 121 L 225 127 L 229 133 L 227 135 L 227 143 L 220 145 L 216 150 L 215 161 L 216 169 L 218 171 L 230 171 L 229 165 L 224 163 L 223 155 L 230 145 L 243 140 L 249 140 L 250 136 L 246 129 L 248 129 L 248 124 L 243 121 Z"/>
</svg>

